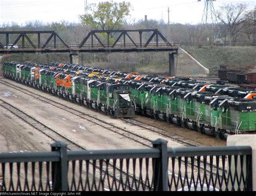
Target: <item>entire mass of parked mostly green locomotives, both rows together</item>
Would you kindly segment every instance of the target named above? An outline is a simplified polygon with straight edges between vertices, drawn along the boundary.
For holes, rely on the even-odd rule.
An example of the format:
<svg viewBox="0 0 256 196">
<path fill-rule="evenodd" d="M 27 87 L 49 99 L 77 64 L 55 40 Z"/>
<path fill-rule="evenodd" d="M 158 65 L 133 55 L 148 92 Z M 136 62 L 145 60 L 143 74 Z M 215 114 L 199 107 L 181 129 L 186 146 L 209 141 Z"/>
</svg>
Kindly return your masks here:
<svg viewBox="0 0 256 196">
<path fill-rule="evenodd" d="M 256 132 L 256 92 L 189 78 L 4 62 L 4 76 L 115 117 L 134 113 L 225 139 Z"/>
</svg>

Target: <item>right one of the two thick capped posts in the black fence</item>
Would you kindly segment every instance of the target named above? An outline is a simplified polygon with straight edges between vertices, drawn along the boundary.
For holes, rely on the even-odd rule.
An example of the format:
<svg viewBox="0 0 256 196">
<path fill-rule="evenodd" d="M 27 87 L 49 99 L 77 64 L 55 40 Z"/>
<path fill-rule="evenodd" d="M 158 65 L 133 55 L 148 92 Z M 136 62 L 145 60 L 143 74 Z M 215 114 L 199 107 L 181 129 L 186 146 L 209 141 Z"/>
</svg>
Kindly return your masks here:
<svg viewBox="0 0 256 196">
<path fill-rule="evenodd" d="M 160 150 L 160 158 L 153 159 L 154 191 L 168 191 L 168 155 L 167 141 L 157 139 L 153 148 Z"/>
</svg>

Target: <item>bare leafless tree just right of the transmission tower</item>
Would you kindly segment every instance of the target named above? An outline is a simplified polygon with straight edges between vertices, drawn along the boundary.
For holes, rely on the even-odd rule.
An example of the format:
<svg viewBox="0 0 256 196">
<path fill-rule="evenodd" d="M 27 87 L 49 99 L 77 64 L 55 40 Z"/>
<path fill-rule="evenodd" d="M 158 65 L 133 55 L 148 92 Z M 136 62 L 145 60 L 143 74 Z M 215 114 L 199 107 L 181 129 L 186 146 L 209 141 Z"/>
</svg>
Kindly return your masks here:
<svg viewBox="0 0 256 196">
<path fill-rule="evenodd" d="M 225 5 L 220 7 L 217 17 L 226 26 L 230 36 L 230 46 L 234 45 L 237 33 L 246 25 L 247 6 L 245 4 Z"/>
</svg>

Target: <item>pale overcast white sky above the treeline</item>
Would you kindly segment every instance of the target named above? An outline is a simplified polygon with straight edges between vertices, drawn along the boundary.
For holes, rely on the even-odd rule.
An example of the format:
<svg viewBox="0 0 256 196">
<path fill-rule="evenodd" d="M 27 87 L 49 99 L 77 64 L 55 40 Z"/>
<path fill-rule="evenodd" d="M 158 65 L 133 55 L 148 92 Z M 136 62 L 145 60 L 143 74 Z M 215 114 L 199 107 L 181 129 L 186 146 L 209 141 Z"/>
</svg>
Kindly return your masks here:
<svg viewBox="0 0 256 196">
<path fill-rule="evenodd" d="M 121 0 L 109 0 L 122 2 Z M 105 2 L 105 0 L 87 0 L 87 4 Z M 144 19 L 164 20 L 168 22 L 168 8 L 170 9 L 170 23 L 201 22 L 204 10 L 204 0 L 130 0 L 132 11 L 128 22 Z M 248 9 L 256 6 L 256 0 L 216 0 L 213 2 L 217 11 L 225 4 L 247 4 Z M 25 25 L 28 21 L 39 20 L 43 23 L 68 22 L 78 23 L 78 15 L 85 12 L 85 0 L 0 0 L 0 25 L 12 22 Z"/>
</svg>

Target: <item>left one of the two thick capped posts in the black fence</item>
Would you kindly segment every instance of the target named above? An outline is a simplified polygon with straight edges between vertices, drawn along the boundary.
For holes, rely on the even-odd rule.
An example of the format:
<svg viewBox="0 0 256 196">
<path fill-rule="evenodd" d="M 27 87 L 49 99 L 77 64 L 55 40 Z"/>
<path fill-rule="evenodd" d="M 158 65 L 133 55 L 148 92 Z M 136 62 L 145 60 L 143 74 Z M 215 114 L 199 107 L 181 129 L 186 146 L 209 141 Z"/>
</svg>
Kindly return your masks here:
<svg viewBox="0 0 256 196">
<path fill-rule="evenodd" d="M 68 191 L 68 159 L 64 142 L 51 144 L 51 151 L 59 151 L 59 162 L 52 162 L 52 191 Z"/>
</svg>

